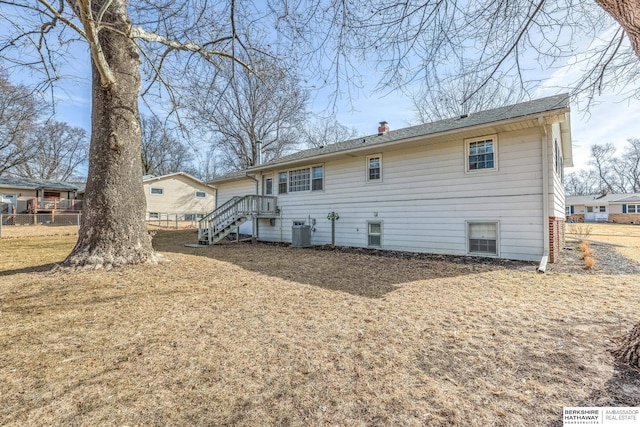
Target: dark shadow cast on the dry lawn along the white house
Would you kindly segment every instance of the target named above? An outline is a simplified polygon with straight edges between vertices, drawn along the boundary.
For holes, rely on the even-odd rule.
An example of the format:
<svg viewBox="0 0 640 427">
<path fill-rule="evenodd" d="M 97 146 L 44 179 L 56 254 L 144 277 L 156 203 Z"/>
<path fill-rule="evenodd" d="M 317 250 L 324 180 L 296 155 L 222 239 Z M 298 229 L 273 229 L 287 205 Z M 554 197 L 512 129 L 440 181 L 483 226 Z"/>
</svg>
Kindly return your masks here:
<svg viewBox="0 0 640 427">
<path fill-rule="evenodd" d="M 287 281 L 381 298 L 418 280 L 462 277 L 502 269 L 535 271 L 530 262 L 490 258 L 411 254 L 356 248 L 291 248 L 268 243 L 223 243 L 202 248 L 193 231 L 158 232 L 154 247 L 162 252 L 195 255 L 228 262 L 245 270 Z"/>
</svg>

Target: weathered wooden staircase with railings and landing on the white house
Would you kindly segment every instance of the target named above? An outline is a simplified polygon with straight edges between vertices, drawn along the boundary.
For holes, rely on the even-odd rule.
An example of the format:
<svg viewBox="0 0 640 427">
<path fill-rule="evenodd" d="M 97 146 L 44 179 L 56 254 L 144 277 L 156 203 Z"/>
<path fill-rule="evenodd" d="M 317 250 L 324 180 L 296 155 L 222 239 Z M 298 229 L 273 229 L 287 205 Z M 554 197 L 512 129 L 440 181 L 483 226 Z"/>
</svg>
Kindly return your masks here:
<svg viewBox="0 0 640 427">
<path fill-rule="evenodd" d="M 277 211 L 273 196 L 233 197 L 198 222 L 198 244 L 216 244 L 244 222 L 255 218 L 276 218 Z"/>
</svg>

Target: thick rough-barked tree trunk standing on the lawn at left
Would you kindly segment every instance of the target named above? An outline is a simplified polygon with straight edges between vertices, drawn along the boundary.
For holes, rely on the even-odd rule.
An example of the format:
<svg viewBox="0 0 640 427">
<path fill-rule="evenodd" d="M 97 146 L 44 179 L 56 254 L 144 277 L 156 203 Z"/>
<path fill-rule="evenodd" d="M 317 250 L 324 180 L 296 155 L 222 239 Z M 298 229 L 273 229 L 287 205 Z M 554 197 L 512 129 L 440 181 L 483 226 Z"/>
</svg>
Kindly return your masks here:
<svg viewBox="0 0 640 427">
<path fill-rule="evenodd" d="M 105 1 L 97 1 L 95 10 Z M 113 0 L 104 19 L 128 34 L 126 0 Z M 144 215 L 141 132 L 138 113 L 140 58 L 133 41 L 114 31 L 99 33 L 113 82 L 92 60 L 89 176 L 78 242 L 64 264 L 110 267 L 155 261 Z"/>
</svg>

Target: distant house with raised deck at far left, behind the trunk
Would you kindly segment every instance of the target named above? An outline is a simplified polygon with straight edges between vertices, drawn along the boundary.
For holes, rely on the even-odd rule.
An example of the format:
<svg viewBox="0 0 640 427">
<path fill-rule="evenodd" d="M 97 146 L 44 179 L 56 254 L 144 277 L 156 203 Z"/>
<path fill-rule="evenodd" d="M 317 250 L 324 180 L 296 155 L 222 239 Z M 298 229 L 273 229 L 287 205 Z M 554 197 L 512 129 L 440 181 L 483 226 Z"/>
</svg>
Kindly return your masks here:
<svg viewBox="0 0 640 427">
<path fill-rule="evenodd" d="M 0 213 L 76 213 L 82 209 L 78 188 L 67 182 L 2 176 Z"/>
</svg>

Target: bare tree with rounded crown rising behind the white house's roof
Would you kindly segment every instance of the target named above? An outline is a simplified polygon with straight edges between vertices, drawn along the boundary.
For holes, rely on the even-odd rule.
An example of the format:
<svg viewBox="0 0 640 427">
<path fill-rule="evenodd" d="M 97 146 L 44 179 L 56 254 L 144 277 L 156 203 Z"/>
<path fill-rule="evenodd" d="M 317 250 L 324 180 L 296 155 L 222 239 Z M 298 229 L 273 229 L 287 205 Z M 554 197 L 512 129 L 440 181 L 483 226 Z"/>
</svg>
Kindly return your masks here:
<svg viewBox="0 0 640 427">
<path fill-rule="evenodd" d="M 190 88 L 191 118 L 211 135 L 224 170 L 256 165 L 260 144 L 263 162 L 298 146 L 309 100 L 294 70 L 268 55 L 245 61 L 250 68 L 230 63 L 215 76 L 194 76 Z"/>
</svg>

